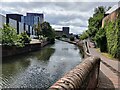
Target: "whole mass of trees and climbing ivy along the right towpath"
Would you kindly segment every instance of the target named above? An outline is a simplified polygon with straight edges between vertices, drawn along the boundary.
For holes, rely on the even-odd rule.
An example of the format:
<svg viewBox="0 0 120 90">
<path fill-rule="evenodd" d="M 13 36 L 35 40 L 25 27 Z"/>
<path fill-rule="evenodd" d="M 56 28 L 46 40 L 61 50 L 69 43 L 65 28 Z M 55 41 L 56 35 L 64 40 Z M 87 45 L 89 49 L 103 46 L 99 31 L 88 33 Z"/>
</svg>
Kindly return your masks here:
<svg viewBox="0 0 120 90">
<path fill-rule="evenodd" d="M 109 8 L 110 9 L 110 8 Z M 108 10 L 108 9 L 107 9 Z M 95 9 L 93 17 L 88 20 L 88 30 L 86 30 L 80 39 L 90 38 L 96 42 L 101 52 L 108 52 L 115 58 L 120 58 L 120 12 L 115 21 L 106 21 L 102 28 L 102 20 L 106 9 L 100 6 Z"/>
</svg>

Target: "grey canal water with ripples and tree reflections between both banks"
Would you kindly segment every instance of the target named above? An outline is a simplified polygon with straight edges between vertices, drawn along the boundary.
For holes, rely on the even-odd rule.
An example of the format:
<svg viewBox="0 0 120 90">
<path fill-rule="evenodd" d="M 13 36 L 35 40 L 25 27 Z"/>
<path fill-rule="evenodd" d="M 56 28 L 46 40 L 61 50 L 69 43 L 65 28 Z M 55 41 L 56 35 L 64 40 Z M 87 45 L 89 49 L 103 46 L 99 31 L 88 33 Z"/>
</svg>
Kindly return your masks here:
<svg viewBox="0 0 120 90">
<path fill-rule="evenodd" d="M 47 89 L 82 61 L 77 46 L 56 40 L 40 51 L 3 59 L 3 88 Z"/>
</svg>

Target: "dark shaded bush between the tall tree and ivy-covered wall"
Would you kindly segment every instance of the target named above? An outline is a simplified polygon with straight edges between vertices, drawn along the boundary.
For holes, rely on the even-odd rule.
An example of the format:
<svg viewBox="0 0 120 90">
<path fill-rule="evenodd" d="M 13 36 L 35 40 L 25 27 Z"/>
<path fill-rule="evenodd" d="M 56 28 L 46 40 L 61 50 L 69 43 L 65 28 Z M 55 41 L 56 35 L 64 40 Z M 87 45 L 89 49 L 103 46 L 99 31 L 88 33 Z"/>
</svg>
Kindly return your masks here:
<svg viewBox="0 0 120 90">
<path fill-rule="evenodd" d="M 100 28 L 100 30 L 97 32 L 95 35 L 95 41 L 97 42 L 98 47 L 100 47 L 101 52 L 107 51 L 107 39 L 104 28 Z"/>
</svg>

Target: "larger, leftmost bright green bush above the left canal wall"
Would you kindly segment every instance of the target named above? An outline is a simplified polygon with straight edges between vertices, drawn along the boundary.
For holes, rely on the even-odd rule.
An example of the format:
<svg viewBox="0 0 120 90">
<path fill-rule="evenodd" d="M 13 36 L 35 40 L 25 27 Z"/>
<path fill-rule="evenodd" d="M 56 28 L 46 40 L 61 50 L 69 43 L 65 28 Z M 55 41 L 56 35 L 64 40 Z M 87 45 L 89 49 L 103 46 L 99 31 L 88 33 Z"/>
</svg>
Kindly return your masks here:
<svg viewBox="0 0 120 90">
<path fill-rule="evenodd" d="M 0 29 L 2 45 L 22 47 L 23 44 L 19 42 L 19 36 L 14 28 L 4 24 L 3 29 Z"/>
</svg>

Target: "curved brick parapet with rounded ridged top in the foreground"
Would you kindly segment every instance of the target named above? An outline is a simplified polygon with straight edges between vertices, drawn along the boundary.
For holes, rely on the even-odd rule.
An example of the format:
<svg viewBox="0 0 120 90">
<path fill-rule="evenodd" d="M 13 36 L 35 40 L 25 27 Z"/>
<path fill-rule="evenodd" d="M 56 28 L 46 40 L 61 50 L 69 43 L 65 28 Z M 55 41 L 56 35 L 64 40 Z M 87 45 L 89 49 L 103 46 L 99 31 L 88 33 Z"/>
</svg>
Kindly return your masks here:
<svg viewBox="0 0 120 90">
<path fill-rule="evenodd" d="M 78 90 L 96 87 L 100 58 L 89 57 L 59 79 L 49 90 Z"/>
</svg>

